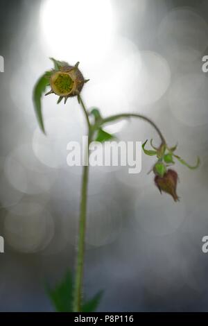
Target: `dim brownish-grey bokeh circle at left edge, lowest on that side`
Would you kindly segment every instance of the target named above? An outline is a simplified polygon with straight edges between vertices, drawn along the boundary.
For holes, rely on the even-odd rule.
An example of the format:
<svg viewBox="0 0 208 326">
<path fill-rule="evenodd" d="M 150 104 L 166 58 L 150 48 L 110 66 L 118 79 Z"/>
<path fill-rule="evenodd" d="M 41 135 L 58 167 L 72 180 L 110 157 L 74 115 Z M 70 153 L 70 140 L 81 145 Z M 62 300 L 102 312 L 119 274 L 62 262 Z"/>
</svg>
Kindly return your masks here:
<svg viewBox="0 0 208 326">
<path fill-rule="evenodd" d="M 48 246 L 54 234 L 51 214 L 37 203 L 19 203 L 4 221 L 9 245 L 19 252 L 38 252 Z"/>
</svg>

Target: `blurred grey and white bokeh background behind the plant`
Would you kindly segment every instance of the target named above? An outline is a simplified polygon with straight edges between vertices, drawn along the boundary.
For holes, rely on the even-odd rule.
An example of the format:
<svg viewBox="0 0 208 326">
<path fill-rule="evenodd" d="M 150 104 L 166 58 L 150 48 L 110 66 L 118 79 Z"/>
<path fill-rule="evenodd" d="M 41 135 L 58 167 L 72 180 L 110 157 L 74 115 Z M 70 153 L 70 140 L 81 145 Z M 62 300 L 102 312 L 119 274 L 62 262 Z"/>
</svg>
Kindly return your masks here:
<svg viewBox="0 0 208 326">
<path fill-rule="evenodd" d="M 44 283 L 73 269 L 81 169 L 66 146 L 86 127 L 76 99 L 43 99 L 47 137 L 32 91 L 49 57 L 80 61 L 87 107 L 103 116 L 141 112 L 198 171 L 177 164 L 180 203 L 159 194 L 153 157 L 142 171 L 94 167 L 89 176 L 85 295 L 99 311 L 207 311 L 208 1 L 1 0 L 0 310 L 53 311 Z M 159 139 L 142 121 L 106 128 L 123 140 Z"/>
</svg>

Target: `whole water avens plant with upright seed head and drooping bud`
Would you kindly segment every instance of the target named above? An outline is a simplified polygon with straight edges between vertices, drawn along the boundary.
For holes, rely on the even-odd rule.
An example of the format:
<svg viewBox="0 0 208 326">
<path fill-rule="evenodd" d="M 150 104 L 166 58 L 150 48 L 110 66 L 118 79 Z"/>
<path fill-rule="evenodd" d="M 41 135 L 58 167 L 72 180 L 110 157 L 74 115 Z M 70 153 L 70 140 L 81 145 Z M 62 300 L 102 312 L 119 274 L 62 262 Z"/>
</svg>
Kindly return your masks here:
<svg viewBox="0 0 208 326">
<path fill-rule="evenodd" d="M 112 115 L 107 118 L 103 118 L 98 109 L 88 110 L 81 97 L 81 91 L 86 80 L 83 74 L 78 69 L 79 62 L 76 65 L 71 66 L 67 62 L 62 62 L 51 58 L 53 61 L 53 69 L 46 71 L 42 77 L 37 80 L 33 90 L 33 103 L 35 108 L 35 113 L 37 116 L 37 121 L 40 125 L 42 132 L 45 132 L 44 121 L 42 118 L 42 105 L 41 98 L 46 92 L 48 87 L 51 87 L 49 92 L 45 95 L 56 94 L 58 95 L 58 102 L 60 103 L 64 99 L 64 103 L 71 96 L 77 96 L 78 103 L 83 110 L 85 115 L 85 120 L 87 123 L 87 133 L 88 133 L 88 144 L 86 148 L 86 155 L 89 157 L 89 144 L 92 141 L 109 141 L 113 139 L 113 135 L 105 132 L 103 127 L 107 123 L 112 123 L 114 121 L 119 121 L 121 119 L 135 118 L 146 121 L 152 126 L 157 132 L 160 145 L 155 147 L 153 145 L 153 139 L 150 140 L 151 149 L 146 149 L 147 140 L 142 145 L 143 151 L 146 155 L 155 156 L 156 162 L 151 169 L 155 175 L 155 185 L 162 193 L 162 191 L 170 194 L 173 200 L 179 200 L 176 193 L 177 188 L 177 172 L 173 169 L 168 169 L 169 166 L 175 164 L 175 159 L 180 163 L 187 166 L 189 169 L 196 169 L 200 164 L 198 158 L 195 166 L 190 166 L 182 160 L 181 157 L 175 154 L 177 145 L 174 147 L 169 147 L 166 144 L 164 135 L 162 135 L 161 130 L 155 125 L 155 123 L 148 117 L 136 114 L 136 113 L 122 113 Z M 74 277 L 72 279 L 71 274 L 67 273 L 62 282 L 56 286 L 55 289 L 49 289 L 49 295 L 55 308 L 58 311 L 94 311 L 98 305 L 101 298 L 101 293 L 89 300 L 84 302 L 83 300 L 83 273 L 84 273 L 84 261 L 85 261 L 85 233 L 86 233 L 86 218 L 87 218 L 87 185 L 89 178 L 89 164 L 83 166 L 83 176 L 82 176 L 82 186 L 81 186 L 81 196 L 80 196 L 80 216 L 79 216 L 79 226 L 78 226 L 78 244 L 77 244 L 77 257 L 76 257 L 76 268 Z"/>
</svg>

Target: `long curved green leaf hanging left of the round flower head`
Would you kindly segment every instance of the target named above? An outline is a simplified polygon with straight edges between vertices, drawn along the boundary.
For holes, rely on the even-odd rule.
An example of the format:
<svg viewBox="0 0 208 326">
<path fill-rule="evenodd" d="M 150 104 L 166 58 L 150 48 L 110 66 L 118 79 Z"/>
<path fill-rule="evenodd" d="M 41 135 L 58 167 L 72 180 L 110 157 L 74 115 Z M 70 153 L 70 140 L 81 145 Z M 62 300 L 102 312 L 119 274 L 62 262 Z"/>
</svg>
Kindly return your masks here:
<svg viewBox="0 0 208 326">
<path fill-rule="evenodd" d="M 42 118 L 41 98 L 42 95 L 46 92 L 46 87 L 48 85 L 49 85 L 49 79 L 46 77 L 46 74 L 44 74 L 39 78 L 39 80 L 37 80 L 37 83 L 35 84 L 35 87 L 33 89 L 33 105 L 35 108 L 35 114 L 37 117 L 37 121 L 40 125 L 40 128 L 44 133 L 45 133 L 45 129 L 44 129 L 44 121 Z"/>
</svg>

